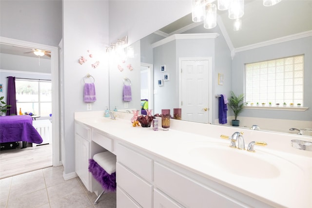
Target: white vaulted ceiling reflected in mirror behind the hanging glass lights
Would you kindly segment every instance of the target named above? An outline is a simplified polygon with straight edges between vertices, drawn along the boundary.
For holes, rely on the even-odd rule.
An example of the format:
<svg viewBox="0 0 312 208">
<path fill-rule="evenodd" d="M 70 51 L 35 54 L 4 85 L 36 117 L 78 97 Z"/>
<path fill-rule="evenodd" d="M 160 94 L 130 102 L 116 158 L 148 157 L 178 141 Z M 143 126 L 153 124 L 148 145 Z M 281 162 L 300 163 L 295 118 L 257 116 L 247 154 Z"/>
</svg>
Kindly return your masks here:
<svg viewBox="0 0 312 208">
<path fill-rule="evenodd" d="M 217 3 L 215 1 L 215 3 Z M 245 0 L 242 30 L 233 30 L 233 19 L 228 18 L 227 11 L 217 10 L 219 27 L 227 34 L 234 48 L 240 48 L 275 38 L 312 31 L 312 0 L 282 0 L 276 5 L 263 6 L 262 0 Z M 203 23 L 202 33 L 209 33 Z M 187 15 L 176 22 L 161 28 L 159 31 L 168 35 L 184 32 L 182 27 L 192 28 L 199 25 L 192 22 L 192 16 Z M 198 26 L 199 27 L 199 26 Z"/>
</svg>

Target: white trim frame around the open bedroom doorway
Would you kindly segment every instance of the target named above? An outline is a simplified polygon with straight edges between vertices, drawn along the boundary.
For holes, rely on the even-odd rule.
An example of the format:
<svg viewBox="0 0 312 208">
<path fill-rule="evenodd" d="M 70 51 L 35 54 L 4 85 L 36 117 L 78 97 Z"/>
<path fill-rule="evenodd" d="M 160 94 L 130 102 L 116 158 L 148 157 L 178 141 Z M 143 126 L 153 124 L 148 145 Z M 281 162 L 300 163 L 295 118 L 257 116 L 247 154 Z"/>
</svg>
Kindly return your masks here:
<svg viewBox="0 0 312 208">
<path fill-rule="evenodd" d="M 39 48 L 51 51 L 51 83 L 52 83 L 52 164 L 61 165 L 59 154 L 59 50 L 58 47 L 33 43 L 13 38 L 0 37 L 3 44 L 17 47 Z"/>
</svg>

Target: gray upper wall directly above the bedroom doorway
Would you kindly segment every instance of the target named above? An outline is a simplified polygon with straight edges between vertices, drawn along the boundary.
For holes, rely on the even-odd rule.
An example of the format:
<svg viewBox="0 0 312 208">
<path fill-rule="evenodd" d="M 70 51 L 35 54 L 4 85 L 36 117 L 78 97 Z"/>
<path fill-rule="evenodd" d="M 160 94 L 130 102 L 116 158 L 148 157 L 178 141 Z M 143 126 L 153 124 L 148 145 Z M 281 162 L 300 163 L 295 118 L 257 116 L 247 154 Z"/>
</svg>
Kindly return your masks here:
<svg viewBox="0 0 312 208">
<path fill-rule="evenodd" d="M 61 0 L 0 0 L 0 36 L 58 46 Z"/>
</svg>

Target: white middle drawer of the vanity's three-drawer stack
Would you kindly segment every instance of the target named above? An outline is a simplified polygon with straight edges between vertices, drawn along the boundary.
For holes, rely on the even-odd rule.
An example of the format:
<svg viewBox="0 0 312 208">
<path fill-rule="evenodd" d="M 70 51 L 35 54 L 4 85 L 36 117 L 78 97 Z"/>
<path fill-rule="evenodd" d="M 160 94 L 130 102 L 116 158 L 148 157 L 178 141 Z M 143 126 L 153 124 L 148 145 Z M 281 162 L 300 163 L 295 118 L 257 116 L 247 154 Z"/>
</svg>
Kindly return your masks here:
<svg viewBox="0 0 312 208">
<path fill-rule="evenodd" d="M 116 182 L 140 206 L 144 208 L 153 206 L 153 186 L 118 162 L 116 164 Z"/>
</svg>

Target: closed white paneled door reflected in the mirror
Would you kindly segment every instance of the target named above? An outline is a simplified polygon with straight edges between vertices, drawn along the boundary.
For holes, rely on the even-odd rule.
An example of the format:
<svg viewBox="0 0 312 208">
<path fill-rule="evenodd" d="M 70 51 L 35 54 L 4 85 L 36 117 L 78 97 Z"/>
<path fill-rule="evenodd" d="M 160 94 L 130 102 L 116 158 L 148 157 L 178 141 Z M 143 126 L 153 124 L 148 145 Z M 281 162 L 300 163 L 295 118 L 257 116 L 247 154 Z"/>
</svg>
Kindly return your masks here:
<svg viewBox="0 0 312 208">
<path fill-rule="evenodd" d="M 210 60 L 182 60 L 182 120 L 208 123 Z"/>
</svg>

